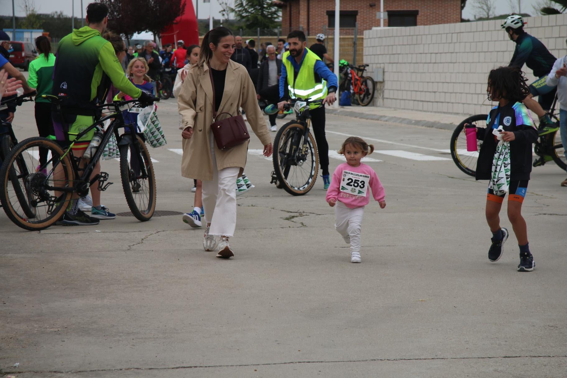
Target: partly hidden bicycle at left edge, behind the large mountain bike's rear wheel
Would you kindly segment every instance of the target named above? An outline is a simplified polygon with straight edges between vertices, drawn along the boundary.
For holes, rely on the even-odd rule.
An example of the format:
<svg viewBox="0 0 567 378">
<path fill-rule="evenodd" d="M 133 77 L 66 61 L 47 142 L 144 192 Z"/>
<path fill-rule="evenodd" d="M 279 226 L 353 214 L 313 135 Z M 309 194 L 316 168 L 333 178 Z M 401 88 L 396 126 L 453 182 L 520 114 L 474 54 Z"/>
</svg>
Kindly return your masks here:
<svg viewBox="0 0 567 378">
<path fill-rule="evenodd" d="M 13 99 L 9 99 L 3 102 L 2 107 L 8 106 L 20 106 L 25 102 L 33 101 L 31 96 L 36 95 L 37 92 L 32 92 L 31 94 L 26 94 L 18 97 L 14 97 Z M 7 156 L 10 155 L 10 151 L 14 148 L 15 145 L 18 144 L 18 139 L 16 139 L 16 135 L 14 134 L 14 130 L 12 129 L 12 124 L 10 122 L 0 120 L 0 163 L 3 163 Z M 23 162 L 21 159 L 16 161 L 19 167 L 23 166 Z M 28 199 L 25 190 L 22 190 L 21 186 L 18 185 L 18 177 L 14 169 L 10 169 L 8 172 L 8 179 L 14 185 L 15 195 L 18 198 L 20 203 L 23 203 L 23 210 L 25 211 L 27 216 L 33 216 L 35 213 L 29 206 L 26 206 Z M 0 207 L 2 207 L 2 202 L 0 201 Z"/>
</svg>

